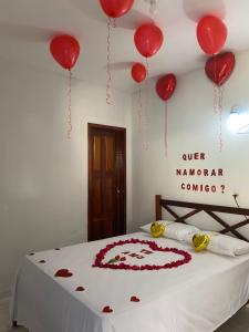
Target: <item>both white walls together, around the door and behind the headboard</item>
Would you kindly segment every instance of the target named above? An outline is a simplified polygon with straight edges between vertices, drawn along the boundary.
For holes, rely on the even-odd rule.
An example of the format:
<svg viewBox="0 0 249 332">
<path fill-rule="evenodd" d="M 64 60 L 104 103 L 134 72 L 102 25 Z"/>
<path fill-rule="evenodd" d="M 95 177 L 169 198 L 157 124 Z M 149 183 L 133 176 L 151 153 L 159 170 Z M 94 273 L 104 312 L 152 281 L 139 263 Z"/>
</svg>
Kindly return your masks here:
<svg viewBox="0 0 249 332">
<path fill-rule="evenodd" d="M 175 95 L 168 102 L 167 158 L 165 105 L 154 92 L 154 82 L 142 96 L 143 110 L 146 100 L 149 106 L 145 151 L 137 125 L 137 94 L 131 107 L 128 94 L 113 92 L 113 105 L 107 106 L 104 87 L 73 80 L 74 131 L 69 143 L 66 77 L 7 61 L 1 61 L 0 69 L 0 293 L 9 290 L 25 252 L 86 240 L 87 122 L 127 127 L 128 230 L 154 219 L 155 194 L 232 206 L 231 195 L 237 191 L 240 205 L 249 207 L 249 136 L 235 136 L 225 125 L 235 104 L 249 110 L 249 52 L 237 55 L 236 70 L 225 86 L 221 154 L 211 83 L 203 70 L 178 77 Z M 180 156 L 191 152 L 204 152 L 207 159 L 186 165 Z M 176 168 L 191 166 L 224 168 L 222 179 L 196 177 L 185 181 L 225 184 L 226 193 L 180 190 L 183 178 L 176 177 Z"/>
</svg>

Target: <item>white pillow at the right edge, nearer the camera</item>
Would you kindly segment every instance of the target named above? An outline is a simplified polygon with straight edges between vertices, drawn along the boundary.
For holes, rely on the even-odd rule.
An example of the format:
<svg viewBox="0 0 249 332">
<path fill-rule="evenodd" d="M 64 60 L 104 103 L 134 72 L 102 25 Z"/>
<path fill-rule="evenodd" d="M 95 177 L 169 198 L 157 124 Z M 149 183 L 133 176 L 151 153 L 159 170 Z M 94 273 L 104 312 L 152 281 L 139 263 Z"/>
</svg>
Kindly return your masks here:
<svg viewBox="0 0 249 332">
<path fill-rule="evenodd" d="M 226 236 L 222 234 L 217 234 L 214 231 L 201 230 L 198 234 L 206 234 L 210 237 L 210 242 L 207 250 L 226 256 L 239 256 L 249 252 L 249 242 Z M 187 242 L 193 243 L 191 236 L 188 236 Z"/>
</svg>

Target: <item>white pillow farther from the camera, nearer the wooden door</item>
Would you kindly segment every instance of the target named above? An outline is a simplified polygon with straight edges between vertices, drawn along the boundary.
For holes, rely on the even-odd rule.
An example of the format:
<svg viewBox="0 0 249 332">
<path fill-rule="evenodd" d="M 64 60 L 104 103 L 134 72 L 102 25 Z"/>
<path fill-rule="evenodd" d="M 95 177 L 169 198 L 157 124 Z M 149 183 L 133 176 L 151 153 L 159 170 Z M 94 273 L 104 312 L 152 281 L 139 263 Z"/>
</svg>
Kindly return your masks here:
<svg viewBox="0 0 249 332">
<path fill-rule="evenodd" d="M 189 235 L 199 232 L 200 230 L 191 225 L 186 225 L 183 222 L 174 222 L 174 221 L 167 221 L 167 220 L 157 220 L 158 222 L 162 222 L 165 225 L 165 238 L 175 239 L 178 241 L 185 241 Z M 151 226 L 153 222 L 144 225 L 141 227 L 142 230 L 151 234 Z"/>
</svg>

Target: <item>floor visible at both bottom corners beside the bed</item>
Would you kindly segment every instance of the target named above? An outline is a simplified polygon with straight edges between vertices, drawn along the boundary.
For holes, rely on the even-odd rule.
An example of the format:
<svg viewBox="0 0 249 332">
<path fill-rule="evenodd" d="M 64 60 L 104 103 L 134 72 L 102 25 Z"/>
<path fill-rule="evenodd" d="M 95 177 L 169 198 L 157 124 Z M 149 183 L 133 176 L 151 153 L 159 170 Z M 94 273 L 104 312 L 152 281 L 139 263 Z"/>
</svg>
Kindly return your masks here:
<svg viewBox="0 0 249 332">
<path fill-rule="evenodd" d="M 9 308 L 8 299 L 1 300 L 0 301 L 0 332 L 28 332 L 28 330 L 24 328 L 11 329 L 8 308 Z M 245 308 L 240 310 L 234 318 L 231 318 L 226 324 L 224 324 L 216 332 L 249 332 L 249 309 Z"/>
</svg>

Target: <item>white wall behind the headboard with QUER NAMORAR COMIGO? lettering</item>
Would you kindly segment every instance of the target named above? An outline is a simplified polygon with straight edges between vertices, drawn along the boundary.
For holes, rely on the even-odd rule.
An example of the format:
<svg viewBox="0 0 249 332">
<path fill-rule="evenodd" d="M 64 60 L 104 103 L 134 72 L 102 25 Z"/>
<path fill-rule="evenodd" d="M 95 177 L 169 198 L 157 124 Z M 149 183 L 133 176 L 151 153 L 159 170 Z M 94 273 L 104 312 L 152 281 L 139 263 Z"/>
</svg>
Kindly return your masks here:
<svg viewBox="0 0 249 332">
<path fill-rule="evenodd" d="M 232 135 L 226 127 L 230 108 L 239 104 L 249 110 L 249 52 L 238 54 L 237 65 L 224 92 L 224 151 L 219 153 L 219 120 L 214 113 L 214 87 L 198 70 L 178 77 L 178 86 L 168 102 L 168 156 L 164 153 L 165 104 L 151 82 L 148 151 L 143 148 L 143 135 L 138 132 L 138 95 L 133 95 L 133 229 L 155 218 L 154 195 L 168 199 L 189 200 L 234 206 L 232 194 L 239 194 L 242 207 L 249 207 L 249 135 Z M 142 98 L 146 105 L 146 96 Z M 145 112 L 144 106 L 144 112 Z M 204 162 L 186 163 L 184 153 L 204 152 Z M 222 178 L 177 178 L 176 168 L 224 168 Z M 180 184 L 204 183 L 226 186 L 225 194 L 187 193 Z"/>
</svg>

